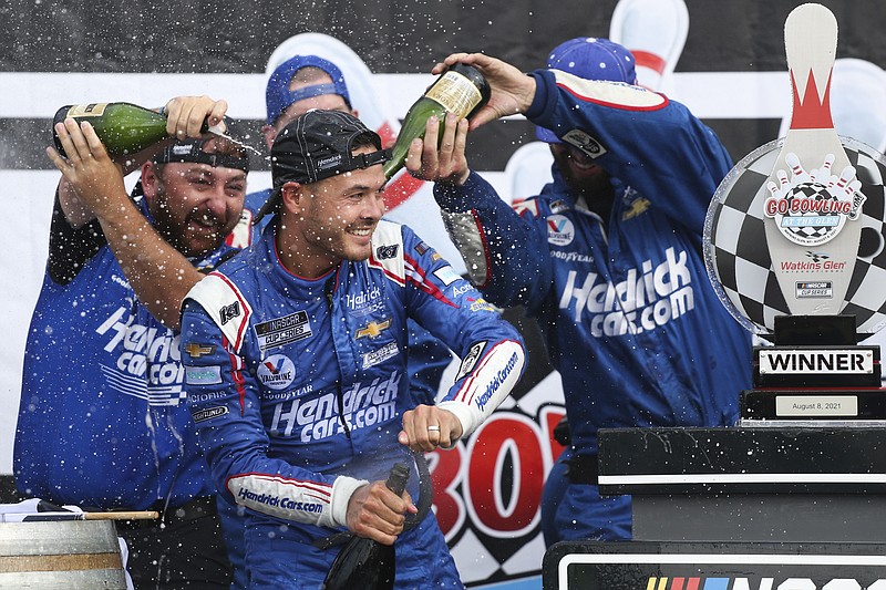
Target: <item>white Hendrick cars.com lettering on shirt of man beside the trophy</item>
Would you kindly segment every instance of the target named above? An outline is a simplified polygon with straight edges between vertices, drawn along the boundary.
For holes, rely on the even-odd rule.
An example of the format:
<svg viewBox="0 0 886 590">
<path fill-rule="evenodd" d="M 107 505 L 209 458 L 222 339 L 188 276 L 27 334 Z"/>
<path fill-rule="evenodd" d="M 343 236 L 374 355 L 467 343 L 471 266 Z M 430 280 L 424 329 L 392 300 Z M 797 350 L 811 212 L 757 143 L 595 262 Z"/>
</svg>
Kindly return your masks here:
<svg viewBox="0 0 886 590">
<path fill-rule="evenodd" d="M 653 266 L 646 260 L 615 284 L 596 272 L 570 270 L 560 287 L 559 308 L 571 310 L 594 338 L 655 330 L 696 308 L 687 259 L 686 250 L 668 248 L 664 261 Z"/>
</svg>

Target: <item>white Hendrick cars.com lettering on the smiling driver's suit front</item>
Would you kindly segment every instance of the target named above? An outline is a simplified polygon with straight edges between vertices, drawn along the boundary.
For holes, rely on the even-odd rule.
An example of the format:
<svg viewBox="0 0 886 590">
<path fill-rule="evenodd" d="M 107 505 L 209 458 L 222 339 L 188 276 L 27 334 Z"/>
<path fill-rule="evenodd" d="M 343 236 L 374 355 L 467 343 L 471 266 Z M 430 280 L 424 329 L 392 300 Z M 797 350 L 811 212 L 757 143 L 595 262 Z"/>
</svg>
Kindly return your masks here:
<svg viewBox="0 0 886 590">
<path fill-rule="evenodd" d="M 270 432 L 308 443 L 343 433 L 343 423 L 356 431 L 390 422 L 396 416 L 401 377 L 393 371 L 389 379 L 354 383 L 341 393 L 343 414 L 339 414 L 336 391 L 281 401 L 274 408 Z"/>
</svg>

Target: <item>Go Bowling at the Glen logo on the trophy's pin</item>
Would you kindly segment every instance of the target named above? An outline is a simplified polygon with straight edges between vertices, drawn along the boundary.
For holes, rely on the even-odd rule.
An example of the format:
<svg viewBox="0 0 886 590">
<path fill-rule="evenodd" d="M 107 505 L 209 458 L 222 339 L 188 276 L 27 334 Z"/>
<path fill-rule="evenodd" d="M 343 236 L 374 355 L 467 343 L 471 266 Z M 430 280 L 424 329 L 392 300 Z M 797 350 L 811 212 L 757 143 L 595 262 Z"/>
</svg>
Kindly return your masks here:
<svg viewBox="0 0 886 590">
<path fill-rule="evenodd" d="M 784 161 L 790 177 L 777 170 L 779 183 L 767 183 L 771 196 L 763 205 L 763 214 L 775 219 L 782 236 L 800 246 L 816 246 L 834 239 L 847 219 L 858 219 L 865 196 L 854 167 L 846 166 L 839 176 L 831 174 L 833 154 L 808 173 L 793 152 Z"/>
</svg>

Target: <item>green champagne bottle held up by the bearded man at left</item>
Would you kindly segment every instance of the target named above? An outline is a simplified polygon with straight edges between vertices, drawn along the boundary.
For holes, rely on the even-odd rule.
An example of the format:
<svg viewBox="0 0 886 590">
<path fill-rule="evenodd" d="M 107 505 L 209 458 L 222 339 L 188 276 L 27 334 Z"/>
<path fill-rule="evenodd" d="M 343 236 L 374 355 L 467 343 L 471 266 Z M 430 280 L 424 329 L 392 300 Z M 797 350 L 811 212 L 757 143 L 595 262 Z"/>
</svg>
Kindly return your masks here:
<svg viewBox="0 0 886 590">
<path fill-rule="evenodd" d="M 52 120 L 55 149 L 64 149 L 55 133 L 55 123 L 72 117 L 89 121 L 111 156 L 135 154 L 167 137 L 166 116 L 131 103 L 92 103 L 62 106 Z"/>
</svg>

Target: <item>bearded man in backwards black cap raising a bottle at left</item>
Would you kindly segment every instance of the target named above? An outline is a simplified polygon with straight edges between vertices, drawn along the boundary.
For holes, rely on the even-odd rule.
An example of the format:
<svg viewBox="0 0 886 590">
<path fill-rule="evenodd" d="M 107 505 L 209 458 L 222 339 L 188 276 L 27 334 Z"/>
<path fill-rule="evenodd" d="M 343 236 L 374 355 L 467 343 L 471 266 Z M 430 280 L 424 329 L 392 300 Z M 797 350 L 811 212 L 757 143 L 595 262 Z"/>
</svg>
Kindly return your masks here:
<svg viewBox="0 0 886 590">
<path fill-rule="evenodd" d="M 248 159 L 206 135 L 227 105 L 178 97 L 175 138 L 113 162 L 89 123 L 56 125 L 66 157 L 28 337 L 14 447 L 18 489 L 59 505 L 156 510 L 119 521 L 136 589 L 227 589 L 215 486 L 195 439 L 179 359 L 181 301 L 248 245 Z M 123 168 L 141 167 L 133 198 Z"/>
</svg>

